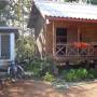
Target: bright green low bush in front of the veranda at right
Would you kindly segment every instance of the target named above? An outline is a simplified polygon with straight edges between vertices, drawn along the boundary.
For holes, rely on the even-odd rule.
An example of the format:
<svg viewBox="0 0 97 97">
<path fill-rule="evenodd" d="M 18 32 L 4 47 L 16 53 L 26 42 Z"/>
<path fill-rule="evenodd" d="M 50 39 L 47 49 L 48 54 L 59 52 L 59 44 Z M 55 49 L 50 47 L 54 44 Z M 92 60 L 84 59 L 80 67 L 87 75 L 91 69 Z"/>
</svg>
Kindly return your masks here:
<svg viewBox="0 0 97 97">
<path fill-rule="evenodd" d="M 64 71 L 65 72 L 65 71 Z M 82 81 L 86 79 L 97 79 L 97 71 L 94 69 L 70 69 L 67 73 L 64 73 L 66 81 Z"/>
</svg>

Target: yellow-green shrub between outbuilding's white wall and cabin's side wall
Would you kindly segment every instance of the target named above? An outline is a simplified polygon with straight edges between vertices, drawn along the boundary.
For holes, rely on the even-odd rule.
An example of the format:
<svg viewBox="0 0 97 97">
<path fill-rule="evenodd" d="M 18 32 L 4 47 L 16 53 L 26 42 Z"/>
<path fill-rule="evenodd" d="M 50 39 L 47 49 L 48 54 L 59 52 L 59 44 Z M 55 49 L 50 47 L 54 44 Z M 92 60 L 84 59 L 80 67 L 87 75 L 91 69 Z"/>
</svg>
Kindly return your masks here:
<svg viewBox="0 0 97 97">
<path fill-rule="evenodd" d="M 34 42 L 31 36 L 19 37 L 16 41 L 16 60 L 30 60 L 34 54 Z"/>
</svg>

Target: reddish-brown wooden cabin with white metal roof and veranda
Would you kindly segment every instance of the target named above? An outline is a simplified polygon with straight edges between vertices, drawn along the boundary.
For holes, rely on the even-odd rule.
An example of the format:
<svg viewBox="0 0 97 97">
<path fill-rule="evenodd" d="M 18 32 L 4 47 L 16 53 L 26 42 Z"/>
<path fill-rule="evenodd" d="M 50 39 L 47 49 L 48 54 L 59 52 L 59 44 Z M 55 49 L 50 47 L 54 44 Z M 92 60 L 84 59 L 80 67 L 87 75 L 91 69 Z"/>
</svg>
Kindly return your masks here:
<svg viewBox="0 0 97 97">
<path fill-rule="evenodd" d="M 38 56 L 59 65 L 97 60 L 97 5 L 34 1 L 28 27 Z"/>
</svg>

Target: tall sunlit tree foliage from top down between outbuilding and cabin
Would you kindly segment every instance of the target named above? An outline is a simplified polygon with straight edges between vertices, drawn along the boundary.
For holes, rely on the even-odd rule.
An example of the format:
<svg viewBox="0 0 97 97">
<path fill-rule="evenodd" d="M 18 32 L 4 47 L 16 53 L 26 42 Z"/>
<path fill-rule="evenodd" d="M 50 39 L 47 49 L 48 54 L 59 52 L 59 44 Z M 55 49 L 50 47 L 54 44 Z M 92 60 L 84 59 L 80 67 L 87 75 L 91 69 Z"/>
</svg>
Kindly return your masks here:
<svg viewBox="0 0 97 97">
<path fill-rule="evenodd" d="M 24 60 L 31 58 L 34 51 L 33 37 L 31 30 L 27 28 L 31 0 L 10 0 L 9 13 L 12 17 L 8 19 L 9 25 L 19 28 L 19 38 L 16 40 L 16 59 Z M 25 36 L 29 32 L 30 36 Z"/>
</svg>

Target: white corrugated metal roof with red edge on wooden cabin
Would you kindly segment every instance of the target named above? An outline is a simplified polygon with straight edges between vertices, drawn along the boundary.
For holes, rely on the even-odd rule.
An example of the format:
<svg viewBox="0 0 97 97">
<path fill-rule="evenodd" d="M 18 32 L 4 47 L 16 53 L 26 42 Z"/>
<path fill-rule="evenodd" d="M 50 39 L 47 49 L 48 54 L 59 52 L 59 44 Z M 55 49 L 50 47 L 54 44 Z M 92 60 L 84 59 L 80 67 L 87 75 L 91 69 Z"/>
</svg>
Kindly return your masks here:
<svg viewBox="0 0 97 97">
<path fill-rule="evenodd" d="M 97 5 L 36 1 L 42 16 L 57 20 L 97 23 Z"/>
</svg>

